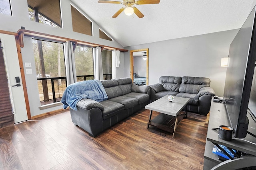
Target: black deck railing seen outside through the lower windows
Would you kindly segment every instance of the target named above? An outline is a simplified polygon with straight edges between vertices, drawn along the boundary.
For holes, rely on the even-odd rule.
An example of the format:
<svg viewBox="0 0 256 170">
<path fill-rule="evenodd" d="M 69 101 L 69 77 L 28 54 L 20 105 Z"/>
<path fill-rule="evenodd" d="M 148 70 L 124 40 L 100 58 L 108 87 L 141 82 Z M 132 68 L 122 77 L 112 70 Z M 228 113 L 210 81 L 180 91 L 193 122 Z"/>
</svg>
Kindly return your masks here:
<svg viewBox="0 0 256 170">
<path fill-rule="evenodd" d="M 103 74 L 104 80 L 112 79 L 112 74 Z M 77 81 L 93 80 L 94 75 L 76 76 Z M 41 106 L 60 102 L 67 87 L 66 77 L 37 78 Z"/>
</svg>

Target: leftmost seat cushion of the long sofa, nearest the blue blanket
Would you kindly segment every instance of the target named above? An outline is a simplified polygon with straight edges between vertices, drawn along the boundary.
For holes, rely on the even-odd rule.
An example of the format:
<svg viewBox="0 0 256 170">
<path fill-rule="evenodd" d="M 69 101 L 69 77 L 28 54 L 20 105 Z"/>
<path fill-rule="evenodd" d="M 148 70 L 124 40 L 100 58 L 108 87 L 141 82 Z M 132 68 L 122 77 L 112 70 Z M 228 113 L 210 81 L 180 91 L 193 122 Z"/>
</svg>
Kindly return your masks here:
<svg viewBox="0 0 256 170">
<path fill-rule="evenodd" d="M 104 120 L 118 114 L 118 111 L 124 109 L 124 105 L 117 102 L 112 102 L 110 100 L 102 101 L 100 102 L 100 104 L 104 108 L 104 110 L 102 111 L 102 117 Z"/>
</svg>

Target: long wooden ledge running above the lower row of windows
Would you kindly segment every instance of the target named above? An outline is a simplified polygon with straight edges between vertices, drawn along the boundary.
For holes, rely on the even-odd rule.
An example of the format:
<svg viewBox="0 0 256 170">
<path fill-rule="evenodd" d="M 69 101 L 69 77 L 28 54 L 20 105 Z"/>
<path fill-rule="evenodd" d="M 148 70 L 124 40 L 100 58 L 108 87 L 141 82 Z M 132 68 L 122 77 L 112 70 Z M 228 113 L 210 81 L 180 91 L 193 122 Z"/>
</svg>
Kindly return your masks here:
<svg viewBox="0 0 256 170">
<path fill-rule="evenodd" d="M 1 33 L 1 31 L 0 31 Z M 50 34 L 46 34 L 46 33 L 40 33 L 40 32 L 36 32 L 36 31 L 30 31 L 27 29 L 19 29 L 17 31 L 18 35 L 21 35 L 22 33 L 24 33 L 25 36 L 29 36 L 29 37 L 42 37 L 42 38 L 46 38 L 46 39 L 52 39 L 52 40 L 57 40 L 57 41 L 72 41 L 72 42 L 77 42 L 77 45 L 86 45 L 88 47 L 104 47 L 104 49 L 109 49 L 109 50 L 119 50 L 122 52 L 127 52 L 128 50 L 126 49 L 119 49 L 119 48 L 115 48 L 115 47 L 110 47 L 110 46 L 103 46 L 100 44 L 95 44 L 95 43 L 89 43 L 86 41 L 80 41 L 80 40 L 76 40 L 76 39 L 70 39 L 70 38 L 66 38 L 66 37 L 60 37 L 60 36 L 56 36 L 56 35 L 50 35 Z M 23 44 L 23 42 L 21 42 L 20 44 Z"/>
</svg>

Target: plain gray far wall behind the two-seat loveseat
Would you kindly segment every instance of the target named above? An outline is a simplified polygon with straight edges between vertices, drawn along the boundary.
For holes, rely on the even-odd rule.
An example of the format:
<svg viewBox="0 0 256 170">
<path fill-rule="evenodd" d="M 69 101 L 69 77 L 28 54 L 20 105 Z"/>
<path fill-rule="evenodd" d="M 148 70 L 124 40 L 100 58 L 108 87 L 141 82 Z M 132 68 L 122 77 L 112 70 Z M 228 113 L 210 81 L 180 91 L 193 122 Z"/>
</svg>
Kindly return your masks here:
<svg viewBox="0 0 256 170">
<path fill-rule="evenodd" d="M 238 29 L 180 39 L 125 47 L 128 50 L 148 48 L 149 85 L 160 76 L 196 76 L 211 79 L 217 96 L 223 96 L 226 67 L 220 67 L 222 57 L 228 57 L 229 46 Z M 124 76 L 130 76 L 130 53 L 124 53 Z"/>
</svg>

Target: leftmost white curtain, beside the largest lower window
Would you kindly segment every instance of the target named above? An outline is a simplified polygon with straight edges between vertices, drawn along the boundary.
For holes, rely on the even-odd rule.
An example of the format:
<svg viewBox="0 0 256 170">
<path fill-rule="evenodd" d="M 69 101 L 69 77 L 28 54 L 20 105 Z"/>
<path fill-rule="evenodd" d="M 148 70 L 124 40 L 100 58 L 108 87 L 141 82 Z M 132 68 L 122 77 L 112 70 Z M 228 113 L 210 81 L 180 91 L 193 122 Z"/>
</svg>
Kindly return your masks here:
<svg viewBox="0 0 256 170">
<path fill-rule="evenodd" d="M 65 66 L 67 86 L 76 82 L 76 65 L 73 51 L 73 45 L 71 41 L 66 42 L 66 54 L 65 54 Z"/>
</svg>

